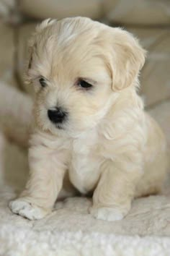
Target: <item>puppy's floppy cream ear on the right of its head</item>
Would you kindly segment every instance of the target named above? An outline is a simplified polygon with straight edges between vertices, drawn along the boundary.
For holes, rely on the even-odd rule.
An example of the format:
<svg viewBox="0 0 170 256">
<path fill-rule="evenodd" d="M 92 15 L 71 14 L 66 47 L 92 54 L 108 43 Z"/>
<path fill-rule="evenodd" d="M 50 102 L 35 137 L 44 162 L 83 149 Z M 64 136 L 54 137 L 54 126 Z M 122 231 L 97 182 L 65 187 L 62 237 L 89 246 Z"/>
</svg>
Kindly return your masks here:
<svg viewBox="0 0 170 256">
<path fill-rule="evenodd" d="M 117 91 L 133 85 L 145 62 L 146 51 L 130 33 L 120 28 L 111 30 L 109 67 L 112 74 L 112 89 Z"/>
</svg>

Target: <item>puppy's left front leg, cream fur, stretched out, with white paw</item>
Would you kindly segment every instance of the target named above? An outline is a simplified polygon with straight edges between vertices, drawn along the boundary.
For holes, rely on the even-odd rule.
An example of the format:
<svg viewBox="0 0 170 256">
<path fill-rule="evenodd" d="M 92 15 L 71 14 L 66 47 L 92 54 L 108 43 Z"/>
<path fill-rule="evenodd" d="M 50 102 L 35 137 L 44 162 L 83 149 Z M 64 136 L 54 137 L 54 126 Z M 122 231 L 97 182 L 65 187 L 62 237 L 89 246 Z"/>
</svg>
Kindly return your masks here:
<svg viewBox="0 0 170 256">
<path fill-rule="evenodd" d="M 46 145 L 30 148 L 30 178 L 19 198 L 9 203 L 13 213 L 30 220 L 50 213 L 63 184 L 66 171 L 64 160 L 63 150 L 54 150 Z"/>
</svg>

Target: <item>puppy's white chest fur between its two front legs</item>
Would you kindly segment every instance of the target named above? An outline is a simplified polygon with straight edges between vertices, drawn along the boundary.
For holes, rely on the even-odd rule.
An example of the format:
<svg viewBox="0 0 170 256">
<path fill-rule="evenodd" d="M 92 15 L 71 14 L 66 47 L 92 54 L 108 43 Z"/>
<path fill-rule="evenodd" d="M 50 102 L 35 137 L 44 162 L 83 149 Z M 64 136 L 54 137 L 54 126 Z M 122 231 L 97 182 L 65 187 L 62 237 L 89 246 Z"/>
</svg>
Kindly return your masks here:
<svg viewBox="0 0 170 256">
<path fill-rule="evenodd" d="M 91 140 L 84 137 L 73 141 L 68 171 L 71 182 L 81 193 L 86 194 L 97 185 L 101 163 L 96 136 L 91 137 Z"/>
</svg>

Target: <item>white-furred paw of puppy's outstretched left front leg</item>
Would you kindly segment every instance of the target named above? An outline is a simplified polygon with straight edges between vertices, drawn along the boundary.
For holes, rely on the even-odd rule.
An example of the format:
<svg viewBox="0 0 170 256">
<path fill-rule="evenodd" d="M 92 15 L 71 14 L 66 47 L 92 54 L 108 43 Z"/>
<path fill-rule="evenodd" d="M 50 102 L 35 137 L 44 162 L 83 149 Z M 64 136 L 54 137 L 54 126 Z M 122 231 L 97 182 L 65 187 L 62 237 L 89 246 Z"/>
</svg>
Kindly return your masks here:
<svg viewBox="0 0 170 256">
<path fill-rule="evenodd" d="M 32 202 L 27 202 L 24 197 L 9 202 L 9 208 L 11 208 L 12 213 L 19 214 L 31 221 L 44 218 L 50 212 L 50 210 L 40 208 Z"/>
</svg>

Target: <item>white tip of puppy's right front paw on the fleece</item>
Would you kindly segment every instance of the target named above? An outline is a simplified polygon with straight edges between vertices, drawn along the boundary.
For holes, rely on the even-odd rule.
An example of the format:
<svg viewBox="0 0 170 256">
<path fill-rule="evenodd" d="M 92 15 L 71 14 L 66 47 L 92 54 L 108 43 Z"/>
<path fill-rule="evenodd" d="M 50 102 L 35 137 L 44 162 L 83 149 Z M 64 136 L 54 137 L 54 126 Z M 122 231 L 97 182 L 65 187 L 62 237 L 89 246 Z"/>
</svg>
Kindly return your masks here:
<svg viewBox="0 0 170 256">
<path fill-rule="evenodd" d="M 104 221 L 120 221 L 125 217 L 125 213 L 122 213 L 122 210 L 118 208 L 90 208 L 90 213 L 94 218 Z"/>
</svg>

